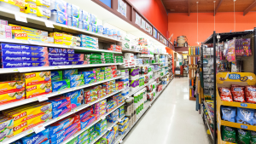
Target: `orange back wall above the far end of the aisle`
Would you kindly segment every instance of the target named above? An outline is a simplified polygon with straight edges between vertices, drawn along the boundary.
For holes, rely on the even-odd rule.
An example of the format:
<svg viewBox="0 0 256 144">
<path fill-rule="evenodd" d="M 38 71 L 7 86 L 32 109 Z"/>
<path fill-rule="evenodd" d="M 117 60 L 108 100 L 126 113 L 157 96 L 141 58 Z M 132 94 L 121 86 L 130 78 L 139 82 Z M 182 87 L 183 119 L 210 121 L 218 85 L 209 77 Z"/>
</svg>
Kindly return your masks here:
<svg viewBox="0 0 256 144">
<path fill-rule="evenodd" d="M 168 31 L 170 36 L 173 33 L 172 42 L 177 36 L 184 35 L 188 37 L 188 43 L 191 46 L 197 45 L 196 37 L 196 13 L 190 16 L 186 13 L 168 14 Z M 215 17 L 216 32 L 234 31 L 234 13 L 217 13 Z M 256 27 L 256 12 L 249 12 L 243 16 L 242 12 L 236 12 L 236 32 L 253 29 Z M 214 31 L 213 13 L 198 14 L 198 41 L 204 42 Z M 232 32 L 233 32 L 232 31 Z"/>
</svg>

